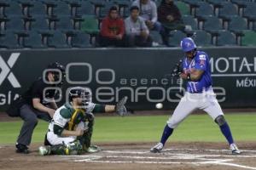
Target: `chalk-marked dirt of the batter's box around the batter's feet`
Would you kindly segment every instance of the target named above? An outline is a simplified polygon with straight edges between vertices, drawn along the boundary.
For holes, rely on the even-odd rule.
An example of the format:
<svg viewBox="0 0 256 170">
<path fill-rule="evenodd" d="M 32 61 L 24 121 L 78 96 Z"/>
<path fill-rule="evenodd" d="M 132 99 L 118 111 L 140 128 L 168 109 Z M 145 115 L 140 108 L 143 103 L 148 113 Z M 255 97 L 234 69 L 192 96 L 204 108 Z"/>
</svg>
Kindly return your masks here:
<svg viewBox="0 0 256 170">
<path fill-rule="evenodd" d="M 202 150 L 197 149 L 171 149 L 163 150 L 163 152 L 159 154 L 150 153 L 148 150 L 103 150 L 102 152 L 92 155 L 75 156 L 74 161 L 96 163 L 188 164 L 192 166 L 210 164 L 256 170 L 256 167 L 242 165 L 243 159 L 255 160 L 256 151 L 242 151 L 242 155 L 234 156 L 229 154 L 230 150 L 204 150 L 204 152 L 202 152 Z"/>
</svg>

